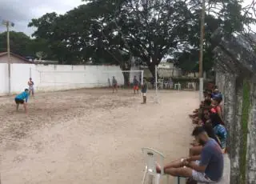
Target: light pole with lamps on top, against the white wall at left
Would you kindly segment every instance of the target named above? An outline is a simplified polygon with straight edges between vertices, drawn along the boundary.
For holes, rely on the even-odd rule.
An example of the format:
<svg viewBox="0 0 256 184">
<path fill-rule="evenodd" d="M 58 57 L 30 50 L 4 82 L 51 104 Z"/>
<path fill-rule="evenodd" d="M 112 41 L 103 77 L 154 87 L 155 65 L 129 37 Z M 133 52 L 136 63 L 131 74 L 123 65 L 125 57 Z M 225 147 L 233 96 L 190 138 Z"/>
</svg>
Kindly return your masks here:
<svg viewBox="0 0 256 184">
<path fill-rule="evenodd" d="M 8 87 L 9 87 L 8 94 L 10 95 L 11 94 L 11 89 L 10 89 L 10 86 L 11 86 L 11 82 L 10 82 L 10 27 L 13 27 L 14 23 L 4 20 L 4 21 L 2 21 L 2 25 L 6 26 L 6 33 L 7 33 Z"/>
</svg>

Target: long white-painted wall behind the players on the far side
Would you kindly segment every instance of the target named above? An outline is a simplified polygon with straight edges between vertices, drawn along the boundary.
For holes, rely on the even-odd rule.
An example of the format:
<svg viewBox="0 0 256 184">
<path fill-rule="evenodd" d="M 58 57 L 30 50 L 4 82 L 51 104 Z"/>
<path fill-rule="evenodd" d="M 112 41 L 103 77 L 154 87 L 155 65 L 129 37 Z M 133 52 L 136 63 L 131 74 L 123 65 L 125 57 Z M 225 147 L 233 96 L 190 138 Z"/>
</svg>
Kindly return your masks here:
<svg viewBox="0 0 256 184">
<path fill-rule="evenodd" d="M 123 85 L 124 79 L 119 66 L 65 66 L 65 65 L 34 65 L 11 64 L 11 92 L 20 93 L 27 88 L 27 82 L 31 76 L 35 90 L 70 90 L 78 88 L 92 88 L 109 86 L 108 78 L 112 77 Z M 133 69 L 136 70 L 136 69 Z M 130 73 L 130 82 L 134 75 L 140 72 Z M 8 93 L 8 66 L 0 63 L 0 95 Z"/>
</svg>

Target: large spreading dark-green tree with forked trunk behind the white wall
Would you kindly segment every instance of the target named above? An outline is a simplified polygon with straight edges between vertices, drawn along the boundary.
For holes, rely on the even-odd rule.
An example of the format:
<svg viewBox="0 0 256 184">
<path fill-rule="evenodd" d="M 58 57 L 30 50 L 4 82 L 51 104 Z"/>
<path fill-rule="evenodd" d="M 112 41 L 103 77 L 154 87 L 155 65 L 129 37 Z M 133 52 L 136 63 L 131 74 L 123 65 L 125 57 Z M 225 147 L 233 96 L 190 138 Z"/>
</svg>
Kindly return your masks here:
<svg viewBox="0 0 256 184">
<path fill-rule="evenodd" d="M 29 26 L 37 28 L 37 38 L 61 42 L 78 62 L 108 58 L 129 70 L 135 57 L 154 75 L 154 66 L 188 39 L 191 18 L 182 1 L 95 0 L 61 16 L 43 15 Z"/>
</svg>

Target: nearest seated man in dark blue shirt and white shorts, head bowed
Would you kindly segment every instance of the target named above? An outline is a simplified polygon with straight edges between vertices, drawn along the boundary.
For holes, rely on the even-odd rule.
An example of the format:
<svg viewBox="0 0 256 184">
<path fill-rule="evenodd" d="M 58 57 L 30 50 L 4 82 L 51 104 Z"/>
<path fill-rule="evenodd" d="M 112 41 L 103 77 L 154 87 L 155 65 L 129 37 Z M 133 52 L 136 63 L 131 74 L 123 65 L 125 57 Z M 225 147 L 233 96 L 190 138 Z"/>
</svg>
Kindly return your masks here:
<svg viewBox="0 0 256 184">
<path fill-rule="evenodd" d="M 192 135 L 204 145 L 201 155 L 171 162 L 164 167 L 164 172 L 172 176 L 193 178 L 197 182 L 218 182 L 222 178 L 224 166 L 221 147 L 207 135 L 202 126 L 195 127 Z M 159 166 L 157 171 L 161 172 Z"/>
</svg>

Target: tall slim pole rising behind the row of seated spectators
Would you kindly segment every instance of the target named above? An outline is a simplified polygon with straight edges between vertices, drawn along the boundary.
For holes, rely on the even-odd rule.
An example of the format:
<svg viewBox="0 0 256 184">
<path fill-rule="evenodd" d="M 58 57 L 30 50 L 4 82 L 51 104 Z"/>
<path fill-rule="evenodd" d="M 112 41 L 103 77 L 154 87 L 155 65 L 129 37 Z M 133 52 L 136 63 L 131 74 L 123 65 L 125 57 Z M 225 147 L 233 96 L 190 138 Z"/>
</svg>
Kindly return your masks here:
<svg viewBox="0 0 256 184">
<path fill-rule="evenodd" d="M 199 99 L 203 98 L 203 73 L 202 73 L 202 58 L 203 58 L 203 40 L 205 28 L 206 0 L 202 0 L 201 14 L 201 30 L 200 30 L 200 53 L 199 53 Z"/>
</svg>

